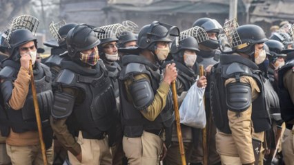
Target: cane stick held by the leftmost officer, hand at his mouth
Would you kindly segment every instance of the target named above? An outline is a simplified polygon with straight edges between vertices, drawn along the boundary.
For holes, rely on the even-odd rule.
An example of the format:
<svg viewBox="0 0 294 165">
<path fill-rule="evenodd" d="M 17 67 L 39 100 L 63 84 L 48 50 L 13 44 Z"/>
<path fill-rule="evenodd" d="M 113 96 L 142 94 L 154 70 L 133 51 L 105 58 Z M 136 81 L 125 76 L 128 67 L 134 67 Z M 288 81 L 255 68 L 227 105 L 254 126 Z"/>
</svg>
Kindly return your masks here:
<svg viewBox="0 0 294 165">
<path fill-rule="evenodd" d="M 39 104 L 37 99 L 37 92 L 35 87 L 35 80 L 34 80 L 34 73 L 32 72 L 32 61 L 30 61 L 29 65 L 30 69 L 30 83 L 32 88 L 32 99 L 34 100 L 34 107 L 35 107 L 35 114 L 36 114 L 36 120 L 37 120 L 37 126 L 38 126 L 38 133 L 39 133 L 39 139 L 41 143 L 41 151 L 42 151 L 42 157 L 44 165 L 47 165 L 47 157 L 46 157 L 46 148 L 45 143 L 43 141 L 43 133 L 42 133 L 42 125 L 41 125 L 41 117 L 40 117 L 40 111 L 39 111 Z"/>
</svg>

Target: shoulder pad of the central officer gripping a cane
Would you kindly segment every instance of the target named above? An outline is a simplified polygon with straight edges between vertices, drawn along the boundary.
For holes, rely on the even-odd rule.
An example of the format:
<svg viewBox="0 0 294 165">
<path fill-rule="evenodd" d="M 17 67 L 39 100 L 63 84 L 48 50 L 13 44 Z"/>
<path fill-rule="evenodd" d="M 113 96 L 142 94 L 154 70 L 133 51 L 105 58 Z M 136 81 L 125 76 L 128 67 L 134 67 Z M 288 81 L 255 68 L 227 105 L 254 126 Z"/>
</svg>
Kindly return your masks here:
<svg viewBox="0 0 294 165">
<path fill-rule="evenodd" d="M 142 73 L 147 73 L 146 66 L 140 63 L 128 63 L 122 70 L 120 78 L 124 80 L 130 74 L 137 75 Z"/>
</svg>

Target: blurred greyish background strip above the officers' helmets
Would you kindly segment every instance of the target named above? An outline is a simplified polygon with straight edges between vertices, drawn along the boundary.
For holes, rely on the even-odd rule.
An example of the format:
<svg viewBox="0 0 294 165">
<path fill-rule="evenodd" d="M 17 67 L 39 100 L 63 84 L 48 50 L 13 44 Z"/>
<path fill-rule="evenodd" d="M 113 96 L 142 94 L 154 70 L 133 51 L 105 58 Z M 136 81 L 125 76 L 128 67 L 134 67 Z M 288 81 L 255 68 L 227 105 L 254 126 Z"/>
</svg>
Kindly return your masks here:
<svg viewBox="0 0 294 165">
<path fill-rule="evenodd" d="M 294 0 L 0 0 L 0 33 L 13 17 L 30 14 L 40 21 L 39 47 L 53 38 L 49 23 L 62 19 L 98 27 L 130 20 L 140 28 L 156 20 L 186 30 L 201 17 L 216 19 L 221 25 L 236 17 L 239 25 L 259 25 L 270 36 L 273 25 L 294 22 L 293 8 Z"/>
</svg>

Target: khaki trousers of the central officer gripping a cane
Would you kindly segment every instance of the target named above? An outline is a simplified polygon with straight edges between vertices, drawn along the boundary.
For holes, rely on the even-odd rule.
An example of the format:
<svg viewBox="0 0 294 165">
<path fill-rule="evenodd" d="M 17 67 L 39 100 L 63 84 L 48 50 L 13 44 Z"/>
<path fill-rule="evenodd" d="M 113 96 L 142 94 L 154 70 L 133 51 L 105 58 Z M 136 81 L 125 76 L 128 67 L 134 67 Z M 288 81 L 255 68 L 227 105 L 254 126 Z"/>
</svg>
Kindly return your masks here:
<svg viewBox="0 0 294 165">
<path fill-rule="evenodd" d="M 163 141 L 158 135 L 143 131 L 141 137 L 123 137 L 128 165 L 158 165 Z"/>
</svg>

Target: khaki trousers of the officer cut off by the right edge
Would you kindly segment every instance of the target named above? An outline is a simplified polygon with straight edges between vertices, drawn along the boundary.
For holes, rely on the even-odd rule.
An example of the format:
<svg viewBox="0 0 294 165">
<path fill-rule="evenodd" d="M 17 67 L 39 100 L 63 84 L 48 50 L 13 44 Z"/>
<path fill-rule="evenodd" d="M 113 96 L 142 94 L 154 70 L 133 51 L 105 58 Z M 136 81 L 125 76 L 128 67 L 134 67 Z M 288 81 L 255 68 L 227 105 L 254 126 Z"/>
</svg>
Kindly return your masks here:
<svg viewBox="0 0 294 165">
<path fill-rule="evenodd" d="M 294 165 L 294 127 L 285 129 L 282 138 L 282 153 L 286 165 Z"/>
</svg>

